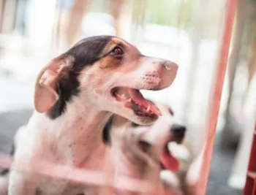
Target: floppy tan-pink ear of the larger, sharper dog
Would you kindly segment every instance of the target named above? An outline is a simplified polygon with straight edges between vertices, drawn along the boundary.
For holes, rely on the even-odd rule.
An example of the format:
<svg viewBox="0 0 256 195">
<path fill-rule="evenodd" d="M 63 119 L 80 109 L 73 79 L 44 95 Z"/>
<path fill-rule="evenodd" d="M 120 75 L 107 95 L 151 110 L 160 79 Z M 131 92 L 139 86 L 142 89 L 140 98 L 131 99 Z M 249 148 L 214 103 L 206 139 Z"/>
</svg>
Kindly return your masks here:
<svg viewBox="0 0 256 195">
<path fill-rule="evenodd" d="M 58 101 L 59 80 L 67 76 L 72 62 L 72 56 L 62 55 L 54 58 L 39 72 L 34 91 L 34 107 L 37 112 L 48 111 Z"/>
</svg>

